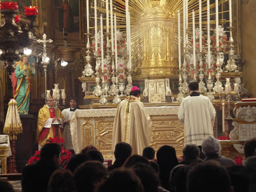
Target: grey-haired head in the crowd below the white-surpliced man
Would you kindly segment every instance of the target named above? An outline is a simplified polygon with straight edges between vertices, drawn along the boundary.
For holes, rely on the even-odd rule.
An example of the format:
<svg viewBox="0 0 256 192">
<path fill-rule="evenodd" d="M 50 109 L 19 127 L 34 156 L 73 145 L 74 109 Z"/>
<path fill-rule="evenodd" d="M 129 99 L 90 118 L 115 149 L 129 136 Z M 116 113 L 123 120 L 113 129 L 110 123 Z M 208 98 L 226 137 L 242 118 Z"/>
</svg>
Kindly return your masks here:
<svg viewBox="0 0 256 192">
<path fill-rule="evenodd" d="M 220 142 L 213 136 L 206 137 L 202 141 L 202 152 L 206 155 L 206 157 L 219 155 L 220 149 Z"/>
</svg>

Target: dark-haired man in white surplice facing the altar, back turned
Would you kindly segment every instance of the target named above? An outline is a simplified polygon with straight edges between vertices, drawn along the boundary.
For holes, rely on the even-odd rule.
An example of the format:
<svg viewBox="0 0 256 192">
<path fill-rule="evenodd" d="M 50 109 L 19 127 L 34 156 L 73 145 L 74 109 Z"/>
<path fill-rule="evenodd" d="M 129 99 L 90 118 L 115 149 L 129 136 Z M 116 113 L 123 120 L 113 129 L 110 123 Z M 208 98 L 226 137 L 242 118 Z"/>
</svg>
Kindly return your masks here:
<svg viewBox="0 0 256 192">
<path fill-rule="evenodd" d="M 215 118 L 215 109 L 208 97 L 200 95 L 198 83 L 188 85 L 190 95 L 182 100 L 178 117 L 184 123 L 184 145 L 202 145 L 205 137 L 213 136 L 212 122 Z"/>
</svg>

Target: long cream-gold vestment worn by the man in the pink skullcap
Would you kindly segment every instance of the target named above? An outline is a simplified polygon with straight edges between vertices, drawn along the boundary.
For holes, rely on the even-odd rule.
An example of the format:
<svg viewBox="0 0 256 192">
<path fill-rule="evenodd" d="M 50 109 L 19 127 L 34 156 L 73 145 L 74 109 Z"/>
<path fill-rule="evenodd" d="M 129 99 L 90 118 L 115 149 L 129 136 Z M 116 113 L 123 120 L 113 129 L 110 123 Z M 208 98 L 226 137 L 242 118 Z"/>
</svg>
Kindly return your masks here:
<svg viewBox="0 0 256 192">
<path fill-rule="evenodd" d="M 152 122 L 140 98 L 127 96 L 117 107 L 113 123 L 112 151 L 118 142 L 127 142 L 132 154 L 142 155 L 150 145 Z"/>
</svg>

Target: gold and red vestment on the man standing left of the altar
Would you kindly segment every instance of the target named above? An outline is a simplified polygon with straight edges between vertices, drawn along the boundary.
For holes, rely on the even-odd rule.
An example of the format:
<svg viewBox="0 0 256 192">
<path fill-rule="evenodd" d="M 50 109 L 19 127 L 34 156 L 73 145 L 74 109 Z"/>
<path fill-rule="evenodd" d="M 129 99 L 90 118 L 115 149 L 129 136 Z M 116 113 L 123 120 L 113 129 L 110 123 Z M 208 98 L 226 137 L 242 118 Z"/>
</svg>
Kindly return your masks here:
<svg viewBox="0 0 256 192">
<path fill-rule="evenodd" d="M 38 119 L 37 119 L 37 131 L 38 131 L 38 144 L 43 146 L 45 145 L 46 140 L 48 140 L 50 137 L 63 137 L 63 128 L 58 126 L 58 132 L 59 135 L 55 135 L 54 127 L 51 124 L 47 127 L 45 127 L 45 124 L 47 122 L 47 119 L 51 119 L 56 117 L 55 115 L 55 109 L 54 108 L 48 108 L 46 105 L 43 105 L 43 108 L 39 110 L 38 113 Z M 58 109 L 58 118 L 61 118 L 64 120 L 64 117 Z M 47 123 L 48 124 L 48 123 Z"/>
</svg>

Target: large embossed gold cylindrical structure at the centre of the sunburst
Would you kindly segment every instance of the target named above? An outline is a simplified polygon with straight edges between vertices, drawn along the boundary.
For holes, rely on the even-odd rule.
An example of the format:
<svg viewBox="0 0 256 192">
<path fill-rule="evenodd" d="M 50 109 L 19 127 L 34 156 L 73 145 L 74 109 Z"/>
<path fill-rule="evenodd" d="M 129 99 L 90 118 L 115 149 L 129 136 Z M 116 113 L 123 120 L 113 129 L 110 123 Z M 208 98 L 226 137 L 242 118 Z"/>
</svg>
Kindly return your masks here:
<svg viewBox="0 0 256 192">
<path fill-rule="evenodd" d="M 143 61 L 135 72 L 142 75 L 176 74 L 175 18 L 162 8 L 160 2 L 153 1 L 152 9 L 141 18 L 143 31 Z M 175 70 L 174 70 L 175 69 Z"/>
</svg>

